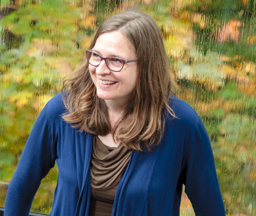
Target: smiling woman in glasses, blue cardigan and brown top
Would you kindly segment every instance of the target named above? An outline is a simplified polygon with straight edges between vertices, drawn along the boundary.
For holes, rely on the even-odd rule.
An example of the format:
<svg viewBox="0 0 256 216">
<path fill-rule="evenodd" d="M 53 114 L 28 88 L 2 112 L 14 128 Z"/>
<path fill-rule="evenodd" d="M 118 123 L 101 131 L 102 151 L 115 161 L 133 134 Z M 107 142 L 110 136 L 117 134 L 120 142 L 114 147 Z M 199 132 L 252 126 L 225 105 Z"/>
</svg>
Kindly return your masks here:
<svg viewBox="0 0 256 216">
<path fill-rule="evenodd" d="M 5 216 L 28 215 L 55 161 L 50 215 L 176 216 L 183 184 L 196 215 L 225 215 L 207 132 L 175 97 L 161 32 L 146 14 L 117 14 L 98 28 L 35 123 Z"/>
</svg>

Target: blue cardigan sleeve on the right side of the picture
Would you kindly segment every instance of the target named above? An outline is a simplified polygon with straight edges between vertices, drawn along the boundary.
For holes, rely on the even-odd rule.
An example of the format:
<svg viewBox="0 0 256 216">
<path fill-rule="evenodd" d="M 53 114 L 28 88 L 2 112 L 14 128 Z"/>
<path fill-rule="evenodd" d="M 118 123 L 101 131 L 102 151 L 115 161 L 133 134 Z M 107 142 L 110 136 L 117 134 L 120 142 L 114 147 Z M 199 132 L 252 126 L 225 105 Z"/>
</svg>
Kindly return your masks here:
<svg viewBox="0 0 256 216">
<path fill-rule="evenodd" d="M 196 216 L 225 216 L 209 136 L 200 117 L 190 125 L 184 154 L 185 192 Z"/>
</svg>

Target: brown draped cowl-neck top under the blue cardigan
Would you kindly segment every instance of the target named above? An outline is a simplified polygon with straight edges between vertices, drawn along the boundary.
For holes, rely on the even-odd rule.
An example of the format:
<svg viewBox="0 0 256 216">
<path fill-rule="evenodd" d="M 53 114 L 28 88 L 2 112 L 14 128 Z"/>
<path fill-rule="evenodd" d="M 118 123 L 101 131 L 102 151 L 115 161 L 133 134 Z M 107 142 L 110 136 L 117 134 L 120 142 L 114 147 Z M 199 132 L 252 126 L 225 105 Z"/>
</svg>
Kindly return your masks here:
<svg viewBox="0 0 256 216">
<path fill-rule="evenodd" d="M 89 216 L 107 216 L 112 213 L 116 188 L 129 163 L 131 150 L 123 144 L 106 146 L 94 137 L 91 153 L 91 202 Z"/>
</svg>

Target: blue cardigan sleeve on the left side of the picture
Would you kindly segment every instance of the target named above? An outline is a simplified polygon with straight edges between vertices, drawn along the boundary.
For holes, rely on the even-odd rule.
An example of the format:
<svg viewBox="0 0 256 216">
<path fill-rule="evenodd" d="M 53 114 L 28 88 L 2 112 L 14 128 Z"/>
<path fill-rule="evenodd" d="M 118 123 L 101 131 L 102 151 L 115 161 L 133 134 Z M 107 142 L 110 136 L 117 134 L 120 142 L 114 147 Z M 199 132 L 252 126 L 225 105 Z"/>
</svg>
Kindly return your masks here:
<svg viewBox="0 0 256 216">
<path fill-rule="evenodd" d="M 47 116 L 48 106 L 49 103 L 39 114 L 9 184 L 5 198 L 5 216 L 28 215 L 41 180 L 54 167 L 57 157 L 56 138 L 53 134 L 53 118 Z"/>
</svg>

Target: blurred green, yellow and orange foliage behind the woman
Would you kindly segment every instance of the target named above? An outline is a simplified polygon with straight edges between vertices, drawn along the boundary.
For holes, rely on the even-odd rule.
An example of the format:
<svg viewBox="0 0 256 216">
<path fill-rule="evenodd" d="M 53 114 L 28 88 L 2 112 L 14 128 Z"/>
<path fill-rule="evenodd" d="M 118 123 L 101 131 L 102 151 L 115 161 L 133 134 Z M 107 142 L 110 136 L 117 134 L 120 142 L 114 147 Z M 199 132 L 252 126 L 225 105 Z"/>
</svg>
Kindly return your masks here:
<svg viewBox="0 0 256 216">
<path fill-rule="evenodd" d="M 254 0 L 2 0 L 0 11 L 0 207 L 26 138 L 61 91 L 108 16 L 140 10 L 163 33 L 178 96 L 202 117 L 226 214 L 256 215 L 256 3 Z M 49 213 L 57 167 L 32 211 Z M 181 215 L 194 215 L 184 194 Z"/>
</svg>

